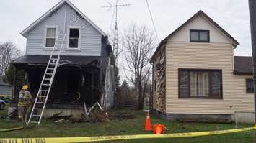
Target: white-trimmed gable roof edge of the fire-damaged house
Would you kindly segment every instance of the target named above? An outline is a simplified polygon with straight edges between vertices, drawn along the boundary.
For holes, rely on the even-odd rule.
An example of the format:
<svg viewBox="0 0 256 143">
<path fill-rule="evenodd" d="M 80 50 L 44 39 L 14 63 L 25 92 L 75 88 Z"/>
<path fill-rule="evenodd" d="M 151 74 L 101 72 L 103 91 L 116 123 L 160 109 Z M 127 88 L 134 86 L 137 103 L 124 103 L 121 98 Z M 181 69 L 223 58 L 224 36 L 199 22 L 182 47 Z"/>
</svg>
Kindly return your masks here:
<svg viewBox="0 0 256 143">
<path fill-rule="evenodd" d="M 55 6 L 53 6 L 53 8 L 51 8 L 50 10 L 48 10 L 47 12 L 45 12 L 45 14 L 43 14 L 41 17 L 39 17 L 35 22 L 33 22 L 32 24 L 30 24 L 29 27 L 27 27 L 26 29 L 24 29 L 22 32 L 20 32 L 20 34 L 22 34 L 22 36 L 26 37 L 27 32 L 30 31 L 30 29 L 34 28 L 38 23 L 40 23 L 41 21 L 43 21 L 45 18 L 48 17 L 48 15 L 50 15 L 53 11 L 56 11 L 56 9 L 60 8 L 63 4 L 68 4 L 69 6 L 71 6 L 72 9 L 74 9 L 77 13 L 79 13 L 81 15 L 81 17 L 83 17 L 85 20 L 87 20 L 87 22 L 89 22 L 89 24 L 92 25 L 92 27 L 94 27 L 95 29 L 97 29 L 98 32 L 100 32 L 100 34 L 102 34 L 104 37 L 107 36 L 107 34 L 105 34 L 105 32 L 102 31 L 102 29 L 100 29 L 99 27 L 97 27 L 96 24 L 94 24 L 88 17 L 86 17 L 79 9 L 76 8 L 76 6 L 74 6 L 74 4 L 72 4 L 69 0 L 62 0 L 60 2 L 58 2 L 58 4 L 56 4 Z"/>
</svg>

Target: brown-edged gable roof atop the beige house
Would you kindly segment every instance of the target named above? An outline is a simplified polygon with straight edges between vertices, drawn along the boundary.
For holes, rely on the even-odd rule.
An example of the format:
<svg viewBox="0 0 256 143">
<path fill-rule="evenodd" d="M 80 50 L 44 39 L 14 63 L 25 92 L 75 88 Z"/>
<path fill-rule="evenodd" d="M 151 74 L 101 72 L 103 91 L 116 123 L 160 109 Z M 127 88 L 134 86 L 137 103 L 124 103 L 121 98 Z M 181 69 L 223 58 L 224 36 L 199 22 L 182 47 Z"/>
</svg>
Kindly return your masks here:
<svg viewBox="0 0 256 143">
<path fill-rule="evenodd" d="M 190 19 L 188 19 L 185 23 L 183 23 L 182 25 L 180 25 L 180 27 L 178 27 L 177 29 L 175 29 L 174 32 L 172 32 L 171 34 L 169 34 L 166 38 L 164 38 L 164 40 L 162 40 L 160 43 L 159 43 L 159 46 L 156 48 L 156 51 L 154 52 L 154 54 L 152 55 L 151 57 L 151 62 L 152 60 L 154 59 L 154 57 L 156 56 L 157 52 L 159 51 L 159 49 L 162 47 L 162 45 L 164 43 L 167 42 L 167 40 L 169 39 L 169 37 L 172 37 L 175 33 L 177 33 L 180 29 L 182 29 L 183 27 L 185 27 L 186 24 L 188 24 L 189 22 L 193 21 L 193 19 L 195 19 L 195 17 L 198 17 L 198 16 L 202 16 L 202 17 L 205 17 L 206 19 L 208 19 L 209 22 L 211 22 L 216 28 L 218 28 L 221 32 L 223 32 L 226 37 L 228 37 L 232 42 L 233 42 L 233 45 L 234 46 L 237 46 L 239 45 L 239 42 L 237 42 L 237 40 L 234 39 L 234 37 L 231 37 L 231 35 L 226 32 L 226 30 L 224 30 L 223 28 L 221 28 L 219 26 L 219 24 L 217 24 L 216 22 L 213 21 L 213 19 L 211 19 L 210 17 L 208 17 L 208 15 L 206 13 L 204 13 L 203 11 L 198 11 L 196 14 L 193 15 L 193 17 L 190 17 Z"/>
</svg>

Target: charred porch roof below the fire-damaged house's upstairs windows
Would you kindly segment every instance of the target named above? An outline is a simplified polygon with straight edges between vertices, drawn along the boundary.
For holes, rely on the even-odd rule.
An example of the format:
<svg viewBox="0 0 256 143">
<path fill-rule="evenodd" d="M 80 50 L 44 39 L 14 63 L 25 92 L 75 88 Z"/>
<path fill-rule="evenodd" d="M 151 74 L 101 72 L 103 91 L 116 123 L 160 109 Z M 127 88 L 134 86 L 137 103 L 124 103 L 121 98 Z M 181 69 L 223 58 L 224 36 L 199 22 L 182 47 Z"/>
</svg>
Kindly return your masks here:
<svg viewBox="0 0 256 143">
<path fill-rule="evenodd" d="M 27 65 L 47 65 L 50 55 L 23 55 L 12 61 L 12 64 L 27 64 Z M 69 63 L 68 65 L 87 65 L 94 61 L 99 62 L 100 56 L 61 56 L 61 63 Z"/>
</svg>

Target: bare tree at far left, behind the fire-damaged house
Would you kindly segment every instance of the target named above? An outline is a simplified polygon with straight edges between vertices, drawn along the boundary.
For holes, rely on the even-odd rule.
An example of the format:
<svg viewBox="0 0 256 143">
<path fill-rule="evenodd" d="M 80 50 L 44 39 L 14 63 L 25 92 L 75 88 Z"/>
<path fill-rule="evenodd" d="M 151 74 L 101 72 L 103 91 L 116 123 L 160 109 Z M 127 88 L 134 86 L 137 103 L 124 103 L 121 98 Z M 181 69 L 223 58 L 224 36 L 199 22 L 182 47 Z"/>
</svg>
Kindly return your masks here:
<svg viewBox="0 0 256 143">
<path fill-rule="evenodd" d="M 0 78 L 6 79 L 9 63 L 20 55 L 20 50 L 13 42 L 8 41 L 0 45 Z"/>
</svg>

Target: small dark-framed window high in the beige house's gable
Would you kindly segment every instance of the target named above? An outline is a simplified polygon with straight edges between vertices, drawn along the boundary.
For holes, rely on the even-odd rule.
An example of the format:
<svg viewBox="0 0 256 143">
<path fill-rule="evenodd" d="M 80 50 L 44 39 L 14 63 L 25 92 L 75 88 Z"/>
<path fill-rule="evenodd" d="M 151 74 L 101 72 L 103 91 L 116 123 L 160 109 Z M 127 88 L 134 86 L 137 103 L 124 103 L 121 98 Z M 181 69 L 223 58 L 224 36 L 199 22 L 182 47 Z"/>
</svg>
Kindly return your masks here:
<svg viewBox="0 0 256 143">
<path fill-rule="evenodd" d="M 190 29 L 190 42 L 210 42 L 209 30 Z"/>
</svg>

